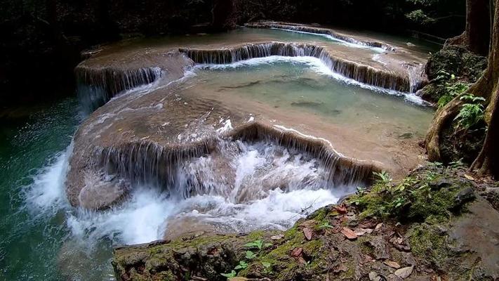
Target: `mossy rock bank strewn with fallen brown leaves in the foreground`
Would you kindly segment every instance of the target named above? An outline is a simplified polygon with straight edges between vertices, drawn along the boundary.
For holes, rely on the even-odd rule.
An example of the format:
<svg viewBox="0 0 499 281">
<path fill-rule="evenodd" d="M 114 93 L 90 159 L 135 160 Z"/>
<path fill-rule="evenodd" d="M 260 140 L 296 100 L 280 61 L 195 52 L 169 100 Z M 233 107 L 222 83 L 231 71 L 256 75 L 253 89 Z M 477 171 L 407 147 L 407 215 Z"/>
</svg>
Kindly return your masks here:
<svg viewBox="0 0 499 281">
<path fill-rule="evenodd" d="M 483 183 L 463 175 L 462 169 L 418 169 L 402 183 L 411 182 L 404 185 L 408 192 L 433 183 L 429 193 L 384 217 L 358 204 L 387 206 L 373 201 L 385 196 L 378 182 L 345 205 L 300 219 L 282 235 L 258 231 L 119 247 L 113 266 L 120 280 L 226 280 L 221 273 L 229 273 L 229 280 L 496 280 L 499 213 L 476 195 Z M 420 207 L 427 208 L 424 215 L 407 216 Z"/>
</svg>

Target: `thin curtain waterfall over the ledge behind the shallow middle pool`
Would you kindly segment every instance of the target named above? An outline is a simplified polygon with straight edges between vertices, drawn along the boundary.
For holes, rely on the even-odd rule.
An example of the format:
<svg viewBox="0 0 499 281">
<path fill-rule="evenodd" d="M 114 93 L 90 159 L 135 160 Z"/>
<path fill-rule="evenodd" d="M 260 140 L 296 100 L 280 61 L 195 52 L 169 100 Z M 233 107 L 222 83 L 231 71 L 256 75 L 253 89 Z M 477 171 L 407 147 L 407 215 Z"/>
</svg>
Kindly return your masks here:
<svg viewBox="0 0 499 281">
<path fill-rule="evenodd" d="M 326 49 L 314 44 L 295 44 L 270 42 L 261 44 L 245 44 L 234 48 L 194 49 L 180 48 L 194 63 L 227 64 L 250 58 L 262 58 L 271 55 L 311 56 L 319 58 L 333 72 L 354 79 L 364 84 L 377 86 L 394 91 L 410 91 L 410 81 L 407 75 L 376 70 L 373 67 L 359 65 L 350 60 L 333 57 Z"/>
</svg>

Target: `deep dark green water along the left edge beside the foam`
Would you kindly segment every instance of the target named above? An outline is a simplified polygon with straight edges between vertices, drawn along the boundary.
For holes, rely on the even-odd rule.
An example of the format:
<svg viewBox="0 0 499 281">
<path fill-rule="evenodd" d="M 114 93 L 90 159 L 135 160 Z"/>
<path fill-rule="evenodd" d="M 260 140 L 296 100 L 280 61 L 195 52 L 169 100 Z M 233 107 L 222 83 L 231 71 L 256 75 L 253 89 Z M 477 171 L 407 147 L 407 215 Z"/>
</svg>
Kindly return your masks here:
<svg viewBox="0 0 499 281">
<path fill-rule="evenodd" d="M 58 280 L 55 257 L 68 235 L 62 202 L 28 202 L 44 167 L 60 158 L 78 124 L 74 98 L 0 123 L 0 280 Z M 50 179 L 49 179 L 50 180 Z"/>
</svg>

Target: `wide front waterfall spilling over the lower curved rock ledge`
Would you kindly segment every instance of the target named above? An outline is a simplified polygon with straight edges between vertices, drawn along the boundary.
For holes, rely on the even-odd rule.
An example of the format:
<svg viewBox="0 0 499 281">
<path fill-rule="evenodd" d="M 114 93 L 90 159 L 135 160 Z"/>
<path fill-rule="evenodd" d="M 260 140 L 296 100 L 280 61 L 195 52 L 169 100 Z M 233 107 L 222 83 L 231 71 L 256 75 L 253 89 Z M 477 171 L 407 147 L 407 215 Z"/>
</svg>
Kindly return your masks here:
<svg viewBox="0 0 499 281">
<path fill-rule="evenodd" d="M 340 155 L 324 140 L 258 123 L 188 146 L 165 147 L 145 140 L 95 150 L 94 155 L 95 169 L 133 186 L 159 186 L 183 199 L 208 194 L 234 202 L 260 199 L 252 195 L 255 188 L 259 194 L 274 188 L 362 185 L 371 180 L 373 171 L 379 171 L 371 162 Z M 286 168 L 290 163 L 313 171 L 300 176 L 300 169 Z"/>
</svg>

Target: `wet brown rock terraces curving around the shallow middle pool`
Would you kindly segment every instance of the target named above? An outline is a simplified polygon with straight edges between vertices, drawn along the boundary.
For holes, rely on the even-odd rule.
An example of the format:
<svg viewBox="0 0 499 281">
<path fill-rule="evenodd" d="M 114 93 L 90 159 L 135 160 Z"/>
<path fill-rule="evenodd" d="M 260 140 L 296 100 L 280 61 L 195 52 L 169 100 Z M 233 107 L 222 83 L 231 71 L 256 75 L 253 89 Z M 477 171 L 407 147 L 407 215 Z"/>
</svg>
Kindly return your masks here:
<svg viewBox="0 0 499 281">
<path fill-rule="evenodd" d="M 345 34 L 342 36 L 343 39 L 348 37 Z M 274 140 L 285 139 L 288 145 L 293 146 L 297 142 L 292 138 L 302 138 L 304 133 L 319 136 L 309 138 L 308 141 L 302 138 L 298 143 L 304 144 L 303 148 L 310 147 L 314 153 L 317 152 L 322 161 L 333 163 L 331 167 L 335 169 L 335 176 L 342 175 L 338 181 L 349 174 L 355 174 L 363 181 L 369 177 L 370 171 L 381 169 L 380 166 L 394 168 L 401 174 L 401 171 L 411 169 L 420 162 L 418 149 L 404 148 L 393 156 L 387 156 L 384 146 L 378 145 L 376 150 L 366 152 L 361 148 L 368 146 L 366 143 L 372 143 L 372 140 L 348 136 L 345 129 L 321 124 L 317 118 L 290 117 L 284 111 L 269 110 L 258 103 L 241 107 L 240 101 L 236 103 L 221 96 L 203 96 L 182 89 L 179 84 L 194 63 L 231 63 L 281 54 L 331 58 L 331 67 L 355 74 L 354 77 L 368 84 L 379 83 L 378 86 L 388 89 L 407 90 L 410 81 L 406 62 L 424 62 L 423 55 L 397 47 L 395 51 L 380 54 L 383 63 L 379 63 L 372 59 L 371 51 L 341 44 L 334 48 L 323 44 L 319 48 L 314 44 L 269 43 L 272 37 L 251 33 L 227 38 L 206 39 L 205 44 L 189 40 L 187 43 L 180 41 L 178 44 L 168 42 L 149 46 L 122 42 L 103 46 L 76 67 L 82 89 L 79 94 L 86 96 L 88 103 L 100 105 L 117 94 L 119 96 L 95 110 L 74 137 L 71 169 L 67 178 L 67 195 L 73 206 L 105 209 L 126 196 L 128 187 L 123 182 L 145 183 L 152 179 L 155 184 L 168 186 L 175 173 L 175 165 L 182 159 L 213 152 L 220 136 L 230 138 L 232 135 L 244 135 L 246 125 L 252 123 L 248 119 L 253 116 L 258 117 L 256 126 L 265 132 L 260 133 L 258 138 L 267 134 Z M 367 40 L 355 38 L 352 37 L 352 40 Z M 241 46 L 241 42 L 245 41 L 255 43 Z M 359 62 L 348 59 L 352 52 L 358 55 Z M 126 92 L 136 86 L 143 89 Z M 295 118 L 299 118 L 302 123 L 300 132 L 282 129 L 282 126 L 295 128 Z M 275 120 L 279 120 L 282 126 L 274 126 Z M 346 155 L 377 162 L 343 157 L 328 143 L 331 136 L 340 139 L 337 143 L 343 144 L 340 148 L 342 151 L 346 149 Z M 345 141 L 351 139 L 356 139 L 358 144 L 352 147 L 350 141 Z M 410 153 L 409 157 L 405 155 L 406 152 Z M 101 184 L 98 175 L 102 173 L 119 177 L 119 180 L 102 183 L 109 190 L 105 196 L 100 196 L 104 188 L 99 192 L 95 188 Z"/>
</svg>

